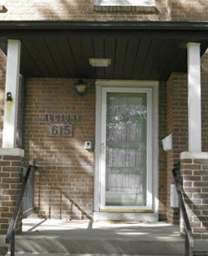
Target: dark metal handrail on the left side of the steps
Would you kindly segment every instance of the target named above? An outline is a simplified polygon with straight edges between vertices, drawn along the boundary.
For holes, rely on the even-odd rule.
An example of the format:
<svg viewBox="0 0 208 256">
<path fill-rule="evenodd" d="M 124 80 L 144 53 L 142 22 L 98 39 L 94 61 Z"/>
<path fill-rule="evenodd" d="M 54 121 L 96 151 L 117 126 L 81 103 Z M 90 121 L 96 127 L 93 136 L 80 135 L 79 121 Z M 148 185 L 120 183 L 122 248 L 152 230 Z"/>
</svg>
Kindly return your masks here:
<svg viewBox="0 0 208 256">
<path fill-rule="evenodd" d="M 14 212 L 12 214 L 11 222 L 9 223 L 9 228 L 7 230 L 7 233 L 6 233 L 6 243 L 10 243 L 11 242 L 11 256 L 14 256 L 14 253 L 15 253 L 14 252 L 15 225 L 16 225 L 17 218 L 18 218 L 18 215 L 19 215 L 19 210 L 20 210 L 20 207 L 21 207 L 21 202 L 22 202 L 22 197 L 24 195 L 24 190 L 26 188 L 27 181 L 29 179 L 29 175 L 31 173 L 32 168 L 33 168 L 32 165 L 29 165 L 29 167 L 27 168 L 27 172 L 26 172 L 26 175 L 24 177 L 24 181 L 22 183 L 21 191 L 19 193 L 16 205 L 14 207 Z"/>
</svg>

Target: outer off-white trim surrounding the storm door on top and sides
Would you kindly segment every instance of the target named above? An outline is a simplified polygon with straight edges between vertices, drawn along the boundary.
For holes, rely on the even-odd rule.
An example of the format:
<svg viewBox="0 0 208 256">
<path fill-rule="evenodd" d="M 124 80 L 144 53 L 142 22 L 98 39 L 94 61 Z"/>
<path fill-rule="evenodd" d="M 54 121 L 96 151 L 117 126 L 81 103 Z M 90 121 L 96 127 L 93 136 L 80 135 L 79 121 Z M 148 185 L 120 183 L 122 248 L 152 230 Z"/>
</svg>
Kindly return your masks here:
<svg viewBox="0 0 208 256">
<path fill-rule="evenodd" d="M 127 80 L 97 80 L 96 81 L 96 145 L 95 145 L 95 174 L 94 174 L 94 212 L 99 212 L 101 207 L 101 188 L 98 185 L 99 177 L 99 159 L 101 156 L 101 102 L 102 88 L 108 87 L 127 87 L 127 88 L 150 88 L 152 91 L 152 212 L 158 212 L 158 82 L 157 81 L 127 81 Z M 102 214 L 102 213 L 99 213 Z M 148 213 L 147 213 L 148 215 Z"/>
</svg>

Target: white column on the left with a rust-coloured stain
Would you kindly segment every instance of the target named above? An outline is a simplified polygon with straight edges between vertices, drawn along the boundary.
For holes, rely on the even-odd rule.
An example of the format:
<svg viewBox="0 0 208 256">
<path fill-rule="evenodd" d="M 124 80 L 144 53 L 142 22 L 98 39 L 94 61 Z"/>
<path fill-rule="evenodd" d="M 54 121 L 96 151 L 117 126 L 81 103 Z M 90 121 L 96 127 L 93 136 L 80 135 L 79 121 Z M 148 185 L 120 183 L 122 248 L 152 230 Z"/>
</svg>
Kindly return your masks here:
<svg viewBox="0 0 208 256">
<path fill-rule="evenodd" d="M 2 148 L 16 147 L 20 52 L 20 41 L 9 39 L 7 42 L 7 64 Z M 6 100 L 8 92 L 11 92 L 12 94 L 12 101 Z"/>
</svg>

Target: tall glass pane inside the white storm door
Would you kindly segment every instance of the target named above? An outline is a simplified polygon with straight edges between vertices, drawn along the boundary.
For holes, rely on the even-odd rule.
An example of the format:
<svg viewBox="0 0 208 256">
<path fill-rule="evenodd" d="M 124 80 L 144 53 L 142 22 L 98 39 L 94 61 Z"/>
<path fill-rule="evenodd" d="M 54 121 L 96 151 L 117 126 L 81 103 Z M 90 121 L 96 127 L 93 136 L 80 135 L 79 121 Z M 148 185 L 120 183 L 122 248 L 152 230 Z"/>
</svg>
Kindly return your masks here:
<svg viewBox="0 0 208 256">
<path fill-rule="evenodd" d="M 107 93 L 106 207 L 147 205 L 147 94 Z"/>
</svg>

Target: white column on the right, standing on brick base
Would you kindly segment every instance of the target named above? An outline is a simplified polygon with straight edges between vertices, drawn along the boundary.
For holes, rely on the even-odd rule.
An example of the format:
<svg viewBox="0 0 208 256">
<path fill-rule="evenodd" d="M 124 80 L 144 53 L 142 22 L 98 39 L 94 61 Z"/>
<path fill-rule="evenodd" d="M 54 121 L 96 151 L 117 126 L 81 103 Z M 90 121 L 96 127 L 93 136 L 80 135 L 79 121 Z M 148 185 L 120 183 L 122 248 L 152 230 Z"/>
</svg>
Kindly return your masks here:
<svg viewBox="0 0 208 256">
<path fill-rule="evenodd" d="M 189 152 L 202 150 L 200 43 L 187 43 Z"/>
</svg>

